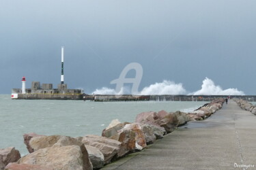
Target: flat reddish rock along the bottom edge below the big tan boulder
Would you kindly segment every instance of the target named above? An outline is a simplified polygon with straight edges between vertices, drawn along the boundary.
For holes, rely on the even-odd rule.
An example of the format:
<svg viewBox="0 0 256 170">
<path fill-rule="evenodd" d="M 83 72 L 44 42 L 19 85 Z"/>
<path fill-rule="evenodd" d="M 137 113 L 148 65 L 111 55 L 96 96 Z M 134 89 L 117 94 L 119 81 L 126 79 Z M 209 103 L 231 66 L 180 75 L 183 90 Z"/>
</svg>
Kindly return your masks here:
<svg viewBox="0 0 256 170">
<path fill-rule="evenodd" d="M 47 167 L 44 165 L 29 165 L 29 164 L 18 164 L 10 163 L 5 167 L 5 170 L 53 170 L 52 167 Z"/>
</svg>

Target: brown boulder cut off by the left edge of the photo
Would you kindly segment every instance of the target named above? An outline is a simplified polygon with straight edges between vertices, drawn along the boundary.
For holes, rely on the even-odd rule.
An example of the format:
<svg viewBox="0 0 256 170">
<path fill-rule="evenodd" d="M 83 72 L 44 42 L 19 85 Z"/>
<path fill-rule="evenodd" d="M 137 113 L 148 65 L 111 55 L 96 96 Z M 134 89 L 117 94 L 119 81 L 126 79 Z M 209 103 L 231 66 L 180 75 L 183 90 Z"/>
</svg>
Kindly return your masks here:
<svg viewBox="0 0 256 170">
<path fill-rule="evenodd" d="M 9 163 L 16 163 L 20 159 L 20 152 L 14 147 L 0 149 L 0 170 Z"/>
</svg>

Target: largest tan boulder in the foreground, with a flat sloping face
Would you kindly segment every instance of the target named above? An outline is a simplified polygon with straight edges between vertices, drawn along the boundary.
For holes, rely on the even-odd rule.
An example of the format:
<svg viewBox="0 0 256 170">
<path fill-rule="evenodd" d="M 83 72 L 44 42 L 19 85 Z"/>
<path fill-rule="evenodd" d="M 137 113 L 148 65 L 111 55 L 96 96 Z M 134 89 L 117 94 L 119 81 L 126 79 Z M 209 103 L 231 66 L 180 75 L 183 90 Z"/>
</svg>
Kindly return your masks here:
<svg viewBox="0 0 256 170">
<path fill-rule="evenodd" d="M 92 169 L 87 150 L 81 146 L 53 146 L 23 156 L 19 164 L 43 165 L 53 169 Z"/>
</svg>

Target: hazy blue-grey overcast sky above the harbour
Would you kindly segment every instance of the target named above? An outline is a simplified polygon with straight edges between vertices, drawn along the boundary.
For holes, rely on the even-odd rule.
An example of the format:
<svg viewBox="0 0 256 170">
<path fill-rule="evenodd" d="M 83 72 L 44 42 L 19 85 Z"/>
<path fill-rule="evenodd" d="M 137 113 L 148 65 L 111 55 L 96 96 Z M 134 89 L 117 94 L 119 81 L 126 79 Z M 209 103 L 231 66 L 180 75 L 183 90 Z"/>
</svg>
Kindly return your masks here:
<svg viewBox="0 0 256 170">
<path fill-rule="evenodd" d="M 93 92 L 132 62 L 140 90 L 172 80 L 189 92 L 205 77 L 256 95 L 256 1 L 0 0 L 0 93 L 31 81 Z M 132 73 L 130 75 L 132 77 Z"/>
</svg>

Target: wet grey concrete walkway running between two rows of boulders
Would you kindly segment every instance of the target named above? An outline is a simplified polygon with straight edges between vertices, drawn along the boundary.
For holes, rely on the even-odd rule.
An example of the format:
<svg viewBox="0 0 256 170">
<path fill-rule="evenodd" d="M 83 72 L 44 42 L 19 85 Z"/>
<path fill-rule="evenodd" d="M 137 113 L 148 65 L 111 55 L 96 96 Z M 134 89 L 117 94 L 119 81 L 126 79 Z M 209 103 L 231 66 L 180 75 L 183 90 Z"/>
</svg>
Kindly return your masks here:
<svg viewBox="0 0 256 170">
<path fill-rule="evenodd" d="M 189 122 L 148 149 L 103 169 L 256 169 L 256 116 L 229 101 L 204 121 Z"/>
</svg>

